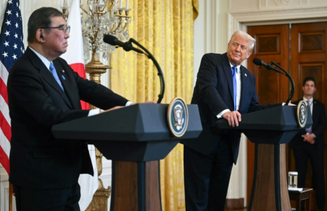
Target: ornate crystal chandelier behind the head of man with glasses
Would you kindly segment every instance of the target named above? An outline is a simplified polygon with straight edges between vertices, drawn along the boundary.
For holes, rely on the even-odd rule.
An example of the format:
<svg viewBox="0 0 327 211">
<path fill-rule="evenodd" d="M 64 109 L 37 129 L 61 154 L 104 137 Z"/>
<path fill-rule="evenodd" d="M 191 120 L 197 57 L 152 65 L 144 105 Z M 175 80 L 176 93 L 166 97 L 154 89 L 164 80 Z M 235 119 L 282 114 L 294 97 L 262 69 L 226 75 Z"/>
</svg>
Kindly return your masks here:
<svg viewBox="0 0 327 211">
<path fill-rule="evenodd" d="M 129 23 L 132 23 L 129 0 L 87 0 L 86 8 L 80 0 L 79 5 L 86 14 L 85 20 L 82 20 L 84 60 L 98 60 L 101 53 L 103 60 L 107 60 L 110 53 L 115 53 L 115 46 L 103 42 L 104 34 L 112 34 L 125 41 L 129 39 Z M 68 17 L 66 0 L 61 8 L 64 18 Z"/>
</svg>

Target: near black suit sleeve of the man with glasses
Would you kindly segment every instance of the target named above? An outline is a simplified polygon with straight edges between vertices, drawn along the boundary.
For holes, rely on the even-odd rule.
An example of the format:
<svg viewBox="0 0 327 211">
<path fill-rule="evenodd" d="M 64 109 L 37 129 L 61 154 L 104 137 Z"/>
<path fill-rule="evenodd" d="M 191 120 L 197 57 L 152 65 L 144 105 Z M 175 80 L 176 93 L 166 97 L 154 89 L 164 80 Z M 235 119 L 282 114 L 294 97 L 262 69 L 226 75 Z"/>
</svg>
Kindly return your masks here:
<svg viewBox="0 0 327 211">
<path fill-rule="evenodd" d="M 11 119 L 26 118 L 52 127 L 54 124 L 86 117 L 89 110 L 63 110 L 44 89 L 44 81 L 33 67 L 14 66 L 8 79 Z M 15 111 L 15 112 L 13 112 Z"/>
</svg>

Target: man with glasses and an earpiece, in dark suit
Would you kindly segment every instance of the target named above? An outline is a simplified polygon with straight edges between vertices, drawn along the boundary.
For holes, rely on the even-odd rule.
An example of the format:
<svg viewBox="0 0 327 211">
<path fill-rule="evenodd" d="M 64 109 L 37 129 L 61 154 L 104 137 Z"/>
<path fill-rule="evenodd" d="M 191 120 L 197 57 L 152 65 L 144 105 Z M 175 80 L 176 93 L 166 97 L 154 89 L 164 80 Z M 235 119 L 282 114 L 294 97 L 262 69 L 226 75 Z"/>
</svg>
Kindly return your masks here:
<svg viewBox="0 0 327 211">
<path fill-rule="evenodd" d="M 79 174 L 93 174 L 86 143 L 55 139 L 54 124 L 101 113 L 81 110 L 80 100 L 103 110 L 131 102 L 79 77 L 59 56 L 70 27 L 55 8 L 39 8 L 28 21 L 28 47 L 8 77 L 11 174 L 18 211 L 79 210 Z"/>
</svg>

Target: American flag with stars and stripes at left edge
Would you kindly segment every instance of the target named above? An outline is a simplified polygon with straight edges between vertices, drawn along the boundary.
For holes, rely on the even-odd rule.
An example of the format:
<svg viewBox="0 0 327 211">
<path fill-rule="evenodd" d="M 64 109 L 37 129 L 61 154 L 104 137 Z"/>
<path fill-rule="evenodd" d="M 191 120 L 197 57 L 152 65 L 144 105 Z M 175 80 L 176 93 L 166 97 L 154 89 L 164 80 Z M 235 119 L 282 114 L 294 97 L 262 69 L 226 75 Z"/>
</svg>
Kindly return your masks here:
<svg viewBox="0 0 327 211">
<path fill-rule="evenodd" d="M 0 162 L 9 174 L 11 119 L 7 80 L 13 63 L 24 53 L 22 15 L 19 0 L 8 0 L 0 34 Z"/>
</svg>

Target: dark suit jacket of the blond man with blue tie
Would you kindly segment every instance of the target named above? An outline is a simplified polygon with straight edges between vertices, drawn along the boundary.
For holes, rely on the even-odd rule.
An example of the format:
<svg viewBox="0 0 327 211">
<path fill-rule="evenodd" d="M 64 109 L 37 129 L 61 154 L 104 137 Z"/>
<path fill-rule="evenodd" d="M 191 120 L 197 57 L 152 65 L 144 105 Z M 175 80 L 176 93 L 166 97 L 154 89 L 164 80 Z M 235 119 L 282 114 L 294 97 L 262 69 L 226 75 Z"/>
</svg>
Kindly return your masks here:
<svg viewBox="0 0 327 211">
<path fill-rule="evenodd" d="M 181 143 L 203 155 L 208 155 L 224 134 L 231 141 L 233 159 L 236 163 L 241 133 L 226 132 L 215 127 L 219 113 L 225 109 L 231 111 L 234 109 L 233 76 L 226 53 L 207 53 L 203 56 L 191 103 L 198 104 L 203 132 L 198 139 L 189 139 Z M 259 106 L 255 76 L 241 65 L 241 100 L 238 112 L 245 114 L 278 105 L 281 104 Z"/>
</svg>

